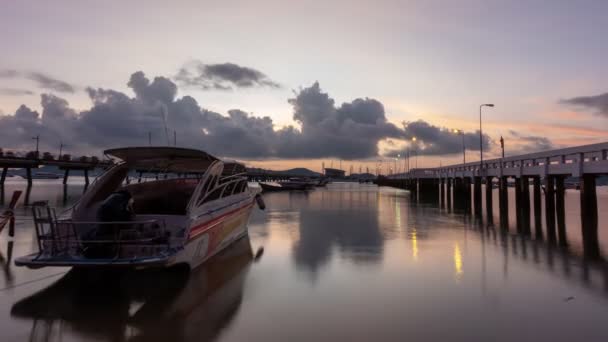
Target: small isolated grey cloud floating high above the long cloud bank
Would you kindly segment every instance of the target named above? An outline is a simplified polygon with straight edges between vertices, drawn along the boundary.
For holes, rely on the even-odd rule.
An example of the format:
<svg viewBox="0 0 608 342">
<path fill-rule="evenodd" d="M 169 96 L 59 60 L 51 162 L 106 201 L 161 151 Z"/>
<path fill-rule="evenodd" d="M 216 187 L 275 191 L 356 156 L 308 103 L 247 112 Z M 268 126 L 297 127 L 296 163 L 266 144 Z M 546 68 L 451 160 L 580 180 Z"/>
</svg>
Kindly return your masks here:
<svg viewBox="0 0 608 342">
<path fill-rule="evenodd" d="M 182 85 L 204 90 L 281 87 L 261 71 L 234 63 L 204 64 L 201 61 L 193 61 L 180 68 L 175 79 Z"/>
</svg>

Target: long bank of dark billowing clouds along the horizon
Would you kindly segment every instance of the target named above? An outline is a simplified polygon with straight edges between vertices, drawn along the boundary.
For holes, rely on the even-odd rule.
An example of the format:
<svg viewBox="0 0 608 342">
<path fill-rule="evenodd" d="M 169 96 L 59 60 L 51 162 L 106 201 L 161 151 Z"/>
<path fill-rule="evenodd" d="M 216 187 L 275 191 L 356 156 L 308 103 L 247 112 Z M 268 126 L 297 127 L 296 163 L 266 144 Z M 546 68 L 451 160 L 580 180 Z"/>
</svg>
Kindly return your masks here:
<svg viewBox="0 0 608 342">
<path fill-rule="evenodd" d="M 202 108 L 190 96 L 178 98 L 177 86 L 165 77 L 149 79 L 139 71 L 127 84 L 134 95 L 87 88 L 92 104 L 83 111 L 74 110 L 61 97 L 42 94 L 40 113 L 21 106 L 14 115 L 0 117 L 0 146 L 31 149 L 31 137 L 40 135 L 42 148 L 51 151 L 62 141 L 73 153 L 99 153 L 111 147 L 147 145 L 149 134 L 154 145 L 172 144 L 175 131 L 179 146 L 247 159 L 371 158 L 379 154 L 379 141 L 413 136 L 418 138 L 420 154 L 461 151 L 457 134 L 424 121 L 397 127 L 387 121 L 377 100 L 358 98 L 338 105 L 318 83 L 296 91 L 288 100 L 298 125 L 278 130 L 269 117 L 239 109 L 222 115 Z M 476 133 L 467 133 L 465 139 L 468 149 L 478 149 Z M 487 136 L 484 145 L 490 146 Z"/>
</svg>

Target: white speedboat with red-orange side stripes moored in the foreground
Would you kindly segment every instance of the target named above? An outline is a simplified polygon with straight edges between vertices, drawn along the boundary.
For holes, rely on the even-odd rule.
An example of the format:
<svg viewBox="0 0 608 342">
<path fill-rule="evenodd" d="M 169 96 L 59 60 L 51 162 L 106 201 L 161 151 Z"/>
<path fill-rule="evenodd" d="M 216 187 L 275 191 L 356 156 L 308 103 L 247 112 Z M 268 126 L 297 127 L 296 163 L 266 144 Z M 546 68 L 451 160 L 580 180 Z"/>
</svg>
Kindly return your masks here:
<svg viewBox="0 0 608 342">
<path fill-rule="evenodd" d="M 33 208 L 38 252 L 17 266 L 194 268 L 246 236 L 254 204 L 264 207 L 240 163 L 174 147 L 104 153 L 116 165 L 72 208 Z"/>
</svg>

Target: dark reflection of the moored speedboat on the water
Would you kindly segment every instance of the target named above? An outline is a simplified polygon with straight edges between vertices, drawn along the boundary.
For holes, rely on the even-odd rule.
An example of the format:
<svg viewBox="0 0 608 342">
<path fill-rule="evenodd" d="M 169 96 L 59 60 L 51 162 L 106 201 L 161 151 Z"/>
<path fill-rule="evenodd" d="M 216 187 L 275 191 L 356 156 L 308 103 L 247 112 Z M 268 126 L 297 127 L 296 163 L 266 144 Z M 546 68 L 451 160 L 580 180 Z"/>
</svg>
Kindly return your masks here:
<svg viewBox="0 0 608 342">
<path fill-rule="evenodd" d="M 212 341 L 238 312 L 253 260 L 243 238 L 190 274 L 180 269 L 104 274 L 72 270 L 15 303 L 31 341 Z"/>
</svg>

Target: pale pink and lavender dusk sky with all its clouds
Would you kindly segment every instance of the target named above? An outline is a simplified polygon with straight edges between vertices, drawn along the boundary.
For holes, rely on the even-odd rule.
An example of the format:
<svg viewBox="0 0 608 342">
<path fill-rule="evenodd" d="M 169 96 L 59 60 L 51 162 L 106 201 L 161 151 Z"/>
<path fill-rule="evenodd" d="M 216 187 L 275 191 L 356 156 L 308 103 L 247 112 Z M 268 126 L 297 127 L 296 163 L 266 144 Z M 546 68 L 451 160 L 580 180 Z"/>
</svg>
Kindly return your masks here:
<svg viewBox="0 0 608 342">
<path fill-rule="evenodd" d="M 478 159 L 482 103 L 495 104 L 488 157 L 501 136 L 507 155 L 605 142 L 605 13 L 606 1 L 3 0 L 0 146 L 31 150 L 40 135 L 42 150 L 99 155 L 175 132 L 251 166 L 386 173 L 408 151 L 420 167 L 460 162 L 454 130 Z"/>
</svg>

